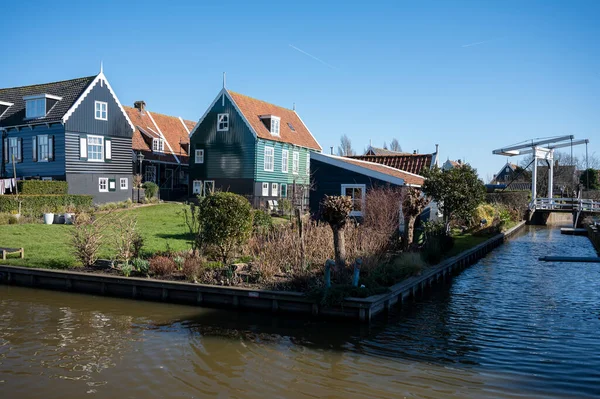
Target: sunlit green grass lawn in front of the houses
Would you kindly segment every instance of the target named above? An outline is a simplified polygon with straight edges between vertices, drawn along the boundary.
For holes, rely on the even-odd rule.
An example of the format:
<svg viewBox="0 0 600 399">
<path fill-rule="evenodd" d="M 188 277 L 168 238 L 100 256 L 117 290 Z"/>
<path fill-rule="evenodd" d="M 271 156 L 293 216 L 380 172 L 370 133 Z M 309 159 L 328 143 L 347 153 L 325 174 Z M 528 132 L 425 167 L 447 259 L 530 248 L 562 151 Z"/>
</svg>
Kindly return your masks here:
<svg viewBox="0 0 600 399">
<path fill-rule="evenodd" d="M 120 212 L 137 216 L 138 228 L 144 237 L 144 252 L 189 248 L 185 239 L 182 210 L 184 205 L 160 204 Z M 68 225 L 21 224 L 0 226 L 0 247 L 23 247 L 25 259 L 9 258 L 3 263 L 18 266 L 60 268 L 76 266 L 71 254 Z M 110 244 L 110 243 L 107 243 Z M 110 258 L 109 245 L 102 248 L 100 256 Z"/>
</svg>

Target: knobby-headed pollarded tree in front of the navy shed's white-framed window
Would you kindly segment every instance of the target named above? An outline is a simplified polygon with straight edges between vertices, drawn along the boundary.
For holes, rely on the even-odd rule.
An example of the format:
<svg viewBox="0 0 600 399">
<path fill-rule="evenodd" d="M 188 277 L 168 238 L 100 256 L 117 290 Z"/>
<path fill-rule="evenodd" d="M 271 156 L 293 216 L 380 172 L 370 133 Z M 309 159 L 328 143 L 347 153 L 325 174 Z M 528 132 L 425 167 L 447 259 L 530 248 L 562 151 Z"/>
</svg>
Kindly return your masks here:
<svg viewBox="0 0 600 399">
<path fill-rule="evenodd" d="M 346 196 L 326 195 L 321 202 L 323 219 L 333 230 L 333 246 L 335 264 L 338 270 L 346 267 L 346 239 L 344 227 L 352 212 L 352 198 Z"/>
</svg>

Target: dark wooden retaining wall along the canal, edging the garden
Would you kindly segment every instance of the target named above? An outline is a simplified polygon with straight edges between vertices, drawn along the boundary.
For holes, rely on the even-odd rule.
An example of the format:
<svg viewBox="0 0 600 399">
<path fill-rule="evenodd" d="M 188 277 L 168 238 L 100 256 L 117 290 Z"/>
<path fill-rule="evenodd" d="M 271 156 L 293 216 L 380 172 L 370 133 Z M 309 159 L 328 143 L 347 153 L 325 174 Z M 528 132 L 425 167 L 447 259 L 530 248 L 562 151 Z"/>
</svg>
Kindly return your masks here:
<svg viewBox="0 0 600 399">
<path fill-rule="evenodd" d="M 514 235 L 519 225 L 457 256 L 449 258 L 421 276 L 410 277 L 390 291 L 368 298 L 347 298 L 342 306 L 324 307 L 300 292 L 252 290 L 146 278 L 119 277 L 64 270 L 33 269 L 0 265 L 0 283 L 72 291 L 93 295 L 182 303 L 207 307 L 253 309 L 273 313 L 300 313 L 324 318 L 345 318 L 370 322 L 391 306 L 404 303 L 433 284 L 472 265 Z"/>
</svg>

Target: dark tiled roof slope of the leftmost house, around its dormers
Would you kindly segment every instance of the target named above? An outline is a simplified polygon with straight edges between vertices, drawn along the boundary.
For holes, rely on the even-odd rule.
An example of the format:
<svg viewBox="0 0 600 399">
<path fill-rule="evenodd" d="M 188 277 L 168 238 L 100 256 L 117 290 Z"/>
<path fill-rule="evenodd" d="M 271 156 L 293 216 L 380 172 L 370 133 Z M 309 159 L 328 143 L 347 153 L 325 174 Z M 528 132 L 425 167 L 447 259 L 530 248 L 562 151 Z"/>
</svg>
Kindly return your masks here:
<svg viewBox="0 0 600 399">
<path fill-rule="evenodd" d="M 96 76 L 88 76 L 61 82 L 0 89 L 0 101 L 14 104 L 0 118 L 0 127 L 62 121 L 63 115 L 95 78 Z M 45 117 L 26 120 L 23 97 L 36 94 L 52 94 L 62 97 L 62 100 L 58 101 Z"/>
</svg>

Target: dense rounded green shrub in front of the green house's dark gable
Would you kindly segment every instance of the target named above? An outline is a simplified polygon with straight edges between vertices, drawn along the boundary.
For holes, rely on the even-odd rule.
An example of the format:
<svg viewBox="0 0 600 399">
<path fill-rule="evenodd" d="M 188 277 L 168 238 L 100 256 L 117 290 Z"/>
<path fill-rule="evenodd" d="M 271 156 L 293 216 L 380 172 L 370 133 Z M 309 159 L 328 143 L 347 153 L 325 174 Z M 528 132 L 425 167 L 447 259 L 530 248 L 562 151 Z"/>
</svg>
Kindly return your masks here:
<svg viewBox="0 0 600 399">
<path fill-rule="evenodd" d="M 252 208 L 241 195 L 216 192 L 198 205 L 199 234 L 203 244 L 218 248 L 227 264 L 231 251 L 244 245 L 252 232 Z"/>
</svg>

